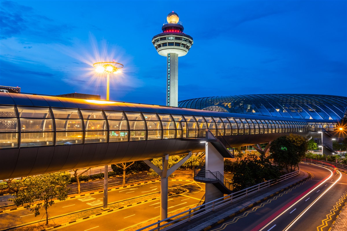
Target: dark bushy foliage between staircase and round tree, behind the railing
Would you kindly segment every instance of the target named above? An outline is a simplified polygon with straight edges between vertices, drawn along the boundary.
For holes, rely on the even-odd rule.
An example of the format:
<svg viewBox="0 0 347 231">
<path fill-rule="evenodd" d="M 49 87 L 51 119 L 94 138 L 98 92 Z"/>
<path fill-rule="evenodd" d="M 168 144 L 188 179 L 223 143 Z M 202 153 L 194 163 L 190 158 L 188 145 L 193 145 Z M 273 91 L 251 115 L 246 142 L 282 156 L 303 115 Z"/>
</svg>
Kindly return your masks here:
<svg viewBox="0 0 347 231">
<path fill-rule="evenodd" d="M 234 165 L 232 185 L 235 191 L 239 191 L 266 180 L 276 179 L 280 175 L 278 166 L 272 165 L 269 158 L 258 159 L 256 155 L 248 154 Z"/>
</svg>

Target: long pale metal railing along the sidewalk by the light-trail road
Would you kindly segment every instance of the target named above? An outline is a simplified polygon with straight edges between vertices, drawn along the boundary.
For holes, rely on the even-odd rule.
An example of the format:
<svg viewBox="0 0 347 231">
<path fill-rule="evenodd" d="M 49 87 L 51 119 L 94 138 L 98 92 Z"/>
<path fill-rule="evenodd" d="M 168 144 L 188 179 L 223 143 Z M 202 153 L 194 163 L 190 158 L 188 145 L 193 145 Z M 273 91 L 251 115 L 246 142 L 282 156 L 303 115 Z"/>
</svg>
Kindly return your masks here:
<svg viewBox="0 0 347 231">
<path fill-rule="evenodd" d="M 215 209 L 220 208 L 222 206 L 225 206 L 225 205 L 227 205 L 233 201 L 237 201 L 237 200 L 244 198 L 248 195 L 259 192 L 260 190 L 262 190 L 264 188 L 268 188 L 272 185 L 275 185 L 275 184 L 282 182 L 283 180 L 287 180 L 287 179 L 289 179 L 291 177 L 295 177 L 299 174 L 300 174 L 300 169 L 298 169 L 294 172 L 288 173 L 286 175 L 283 175 L 283 176 L 279 177 L 278 179 L 268 180 L 268 181 L 265 181 L 263 183 L 254 185 L 252 187 L 245 188 L 245 189 L 240 190 L 238 192 L 231 193 L 227 196 L 215 199 L 214 201 L 199 205 L 195 208 L 190 208 L 189 210 L 186 210 L 184 212 L 170 216 L 167 219 L 164 219 L 164 220 L 155 222 L 153 224 L 147 225 L 141 229 L 138 229 L 137 231 L 149 229 L 151 227 L 152 227 L 152 229 L 150 229 L 149 231 L 168 230 L 168 229 L 174 228 L 177 225 L 180 225 L 184 222 L 190 221 L 192 218 L 196 218 L 196 217 L 199 217 L 199 216 L 206 214 L 210 211 L 214 211 Z M 203 211 L 199 211 L 199 208 L 201 208 L 203 206 L 204 206 Z M 161 222 L 165 222 L 165 223 L 161 225 L 160 224 Z"/>
</svg>

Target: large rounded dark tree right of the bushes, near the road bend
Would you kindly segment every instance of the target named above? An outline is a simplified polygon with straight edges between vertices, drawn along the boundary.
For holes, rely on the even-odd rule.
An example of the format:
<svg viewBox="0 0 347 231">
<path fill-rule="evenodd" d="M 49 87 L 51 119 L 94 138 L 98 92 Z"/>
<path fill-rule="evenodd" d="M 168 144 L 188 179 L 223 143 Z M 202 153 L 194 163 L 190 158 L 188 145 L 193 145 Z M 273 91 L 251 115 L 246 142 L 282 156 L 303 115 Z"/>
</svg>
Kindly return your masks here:
<svg viewBox="0 0 347 231">
<path fill-rule="evenodd" d="M 271 143 L 270 157 L 278 166 L 285 168 L 289 173 L 305 157 L 307 147 L 307 140 L 300 135 L 281 136 Z"/>
</svg>

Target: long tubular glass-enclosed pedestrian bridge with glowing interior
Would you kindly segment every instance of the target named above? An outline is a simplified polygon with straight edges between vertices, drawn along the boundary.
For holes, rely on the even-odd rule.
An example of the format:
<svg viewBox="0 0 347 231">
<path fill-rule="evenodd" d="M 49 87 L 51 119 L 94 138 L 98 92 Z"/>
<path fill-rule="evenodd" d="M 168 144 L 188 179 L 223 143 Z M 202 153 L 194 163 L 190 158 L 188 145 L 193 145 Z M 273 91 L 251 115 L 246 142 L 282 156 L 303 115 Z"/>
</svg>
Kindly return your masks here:
<svg viewBox="0 0 347 231">
<path fill-rule="evenodd" d="M 199 152 L 206 129 L 231 146 L 317 135 L 302 119 L 5 92 L 0 99 L 0 179 Z"/>
</svg>

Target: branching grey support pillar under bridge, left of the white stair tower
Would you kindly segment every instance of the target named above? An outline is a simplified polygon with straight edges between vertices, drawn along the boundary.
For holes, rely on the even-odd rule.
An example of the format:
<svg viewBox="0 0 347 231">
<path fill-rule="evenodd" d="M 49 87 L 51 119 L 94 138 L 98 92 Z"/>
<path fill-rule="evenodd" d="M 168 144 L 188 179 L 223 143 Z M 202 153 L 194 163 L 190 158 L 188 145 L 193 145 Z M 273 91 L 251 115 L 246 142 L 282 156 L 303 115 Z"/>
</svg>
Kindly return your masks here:
<svg viewBox="0 0 347 231">
<path fill-rule="evenodd" d="M 192 152 L 189 152 L 186 157 L 168 169 L 169 154 L 166 154 L 165 157 L 162 157 L 162 170 L 151 161 L 144 160 L 144 162 L 160 176 L 160 220 L 168 218 L 168 177 L 191 156 Z"/>
</svg>

